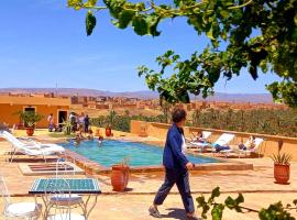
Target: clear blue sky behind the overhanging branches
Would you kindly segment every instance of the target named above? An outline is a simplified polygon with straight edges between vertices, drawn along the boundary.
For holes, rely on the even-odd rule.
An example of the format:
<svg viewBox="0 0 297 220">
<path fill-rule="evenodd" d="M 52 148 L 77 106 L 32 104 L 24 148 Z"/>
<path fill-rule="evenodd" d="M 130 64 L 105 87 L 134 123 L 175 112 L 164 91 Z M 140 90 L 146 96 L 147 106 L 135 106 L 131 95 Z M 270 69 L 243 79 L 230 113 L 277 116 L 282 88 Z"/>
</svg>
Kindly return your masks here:
<svg viewBox="0 0 297 220">
<path fill-rule="evenodd" d="M 136 67 L 155 67 L 155 57 L 172 48 L 187 57 L 207 44 L 183 19 L 165 21 L 160 37 L 119 30 L 107 12 L 97 14 L 94 34 L 86 36 L 86 11 L 66 7 L 66 0 L 9 0 L 0 8 L 0 88 L 58 87 L 110 91 L 146 90 Z M 223 92 L 266 92 L 272 74 L 254 82 L 242 76 L 216 86 Z"/>
</svg>

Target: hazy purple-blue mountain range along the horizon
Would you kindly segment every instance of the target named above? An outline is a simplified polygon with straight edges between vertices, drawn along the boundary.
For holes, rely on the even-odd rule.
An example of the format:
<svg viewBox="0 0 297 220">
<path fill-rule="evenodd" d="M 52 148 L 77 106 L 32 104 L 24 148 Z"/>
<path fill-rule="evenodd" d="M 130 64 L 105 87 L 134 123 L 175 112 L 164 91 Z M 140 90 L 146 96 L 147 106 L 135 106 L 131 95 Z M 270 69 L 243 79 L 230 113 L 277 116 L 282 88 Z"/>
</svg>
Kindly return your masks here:
<svg viewBox="0 0 297 220">
<path fill-rule="evenodd" d="M 48 94 L 54 92 L 58 95 L 68 96 L 106 96 L 106 97 L 129 97 L 139 99 L 157 99 L 158 94 L 150 90 L 141 91 L 102 91 L 97 89 L 78 89 L 78 88 L 0 88 L 0 92 L 18 92 L 18 94 Z M 195 97 L 191 96 L 194 100 Z M 201 97 L 197 97 L 197 100 L 204 100 Z M 272 96 L 270 94 L 223 94 L 216 92 L 215 96 L 206 99 L 207 101 L 227 101 L 227 102 L 254 102 L 254 103 L 273 103 Z"/>
</svg>

